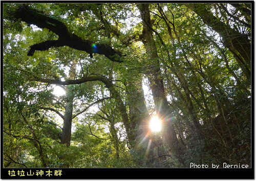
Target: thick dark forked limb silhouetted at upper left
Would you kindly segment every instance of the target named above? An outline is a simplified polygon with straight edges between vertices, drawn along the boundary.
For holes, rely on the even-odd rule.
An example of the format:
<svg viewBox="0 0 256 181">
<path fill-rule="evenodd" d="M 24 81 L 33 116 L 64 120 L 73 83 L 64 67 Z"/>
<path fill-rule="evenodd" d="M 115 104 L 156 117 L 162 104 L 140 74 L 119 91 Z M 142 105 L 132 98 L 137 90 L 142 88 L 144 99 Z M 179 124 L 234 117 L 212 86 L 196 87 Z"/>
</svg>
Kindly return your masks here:
<svg viewBox="0 0 256 181">
<path fill-rule="evenodd" d="M 34 24 L 39 28 L 46 28 L 59 36 L 58 40 L 48 40 L 45 42 L 37 43 L 30 46 L 28 56 L 32 56 L 35 50 L 47 50 L 51 47 L 69 46 L 71 48 L 86 51 L 90 54 L 93 53 L 104 55 L 106 58 L 113 62 L 123 62 L 120 58 L 122 54 L 113 49 L 108 44 L 95 44 L 90 40 L 83 40 L 74 33 L 68 30 L 67 26 L 54 16 L 41 13 L 28 5 L 21 5 L 14 13 L 16 19 Z"/>
</svg>

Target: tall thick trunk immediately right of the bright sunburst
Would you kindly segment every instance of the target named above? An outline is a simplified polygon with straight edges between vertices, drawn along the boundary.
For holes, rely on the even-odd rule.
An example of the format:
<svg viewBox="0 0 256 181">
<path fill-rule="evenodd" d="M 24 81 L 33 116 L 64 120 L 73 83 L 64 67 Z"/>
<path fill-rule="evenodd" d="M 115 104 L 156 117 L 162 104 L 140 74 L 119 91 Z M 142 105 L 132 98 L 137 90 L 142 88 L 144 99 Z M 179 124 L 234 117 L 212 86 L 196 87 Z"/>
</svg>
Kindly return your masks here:
<svg viewBox="0 0 256 181">
<path fill-rule="evenodd" d="M 153 99 L 156 106 L 156 113 L 163 124 L 163 137 L 164 141 L 168 144 L 169 152 L 176 152 L 177 137 L 170 121 L 172 115 L 170 114 L 170 108 L 164 91 L 163 80 L 161 79 L 160 64 L 157 55 L 157 49 L 155 40 L 153 38 L 152 24 L 150 18 L 150 11 L 148 4 L 140 4 L 139 10 L 143 19 L 143 31 L 142 42 L 146 49 L 148 57 L 148 67 L 146 75 L 150 81 L 150 87 L 153 94 Z"/>
</svg>

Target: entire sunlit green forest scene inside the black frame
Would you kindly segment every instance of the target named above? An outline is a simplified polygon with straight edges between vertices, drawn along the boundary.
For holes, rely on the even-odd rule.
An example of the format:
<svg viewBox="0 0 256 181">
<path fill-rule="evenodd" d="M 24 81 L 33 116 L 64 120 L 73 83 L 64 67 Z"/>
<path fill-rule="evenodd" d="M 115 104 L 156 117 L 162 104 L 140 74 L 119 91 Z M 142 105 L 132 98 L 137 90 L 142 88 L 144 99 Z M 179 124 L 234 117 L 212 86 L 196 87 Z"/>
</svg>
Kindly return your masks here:
<svg viewBox="0 0 256 181">
<path fill-rule="evenodd" d="M 4 168 L 251 167 L 250 3 L 4 3 Z"/>
</svg>

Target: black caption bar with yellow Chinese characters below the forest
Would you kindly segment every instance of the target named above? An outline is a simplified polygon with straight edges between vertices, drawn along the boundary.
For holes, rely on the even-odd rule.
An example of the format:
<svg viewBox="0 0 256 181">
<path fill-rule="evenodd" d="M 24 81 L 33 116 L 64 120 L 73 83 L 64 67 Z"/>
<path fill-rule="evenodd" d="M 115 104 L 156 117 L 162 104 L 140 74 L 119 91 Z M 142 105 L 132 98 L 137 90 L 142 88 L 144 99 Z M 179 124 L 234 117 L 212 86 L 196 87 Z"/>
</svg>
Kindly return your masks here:
<svg viewBox="0 0 256 181">
<path fill-rule="evenodd" d="M 190 168 L 2 168 L 1 179 L 94 179 L 94 178 L 254 178 L 254 169 Z"/>
</svg>

